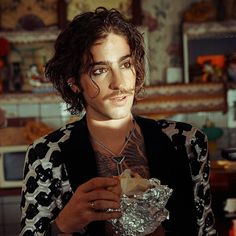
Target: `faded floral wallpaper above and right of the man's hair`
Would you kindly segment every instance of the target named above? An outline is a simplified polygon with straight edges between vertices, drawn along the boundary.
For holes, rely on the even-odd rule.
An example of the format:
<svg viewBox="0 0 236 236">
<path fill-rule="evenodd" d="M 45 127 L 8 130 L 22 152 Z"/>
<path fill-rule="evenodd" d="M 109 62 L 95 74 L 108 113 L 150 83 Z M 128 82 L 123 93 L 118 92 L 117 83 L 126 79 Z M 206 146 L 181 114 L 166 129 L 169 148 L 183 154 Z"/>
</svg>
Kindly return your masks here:
<svg viewBox="0 0 236 236">
<path fill-rule="evenodd" d="M 148 29 L 148 35 L 145 36 L 149 47 L 147 84 L 165 83 L 166 68 L 182 66 L 181 15 L 183 10 L 193 1 L 199 0 L 140 0 L 143 26 Z M 95 9 L 99 5 L 107 8 L 117 8 L 118 2 L 121 11 L 124 9 L 125 12 L 129 9 L 130 0 L 97 0 L 96 3 L 94 1 L 71 0 L 68 5 L 69 20 L 73 18 L 75 12 L 78 14 L 79 12 Z"/>
</svg>

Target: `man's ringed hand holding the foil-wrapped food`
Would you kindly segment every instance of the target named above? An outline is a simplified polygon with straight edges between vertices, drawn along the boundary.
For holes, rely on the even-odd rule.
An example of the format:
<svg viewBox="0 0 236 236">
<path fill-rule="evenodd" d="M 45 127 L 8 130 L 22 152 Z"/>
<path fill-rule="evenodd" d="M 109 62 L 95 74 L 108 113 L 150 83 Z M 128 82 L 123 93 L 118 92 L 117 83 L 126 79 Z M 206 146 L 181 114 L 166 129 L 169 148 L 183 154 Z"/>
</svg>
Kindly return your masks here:
<svg viewBox="0 0 236 236">
<path fill-rule="evenodd" d="M 118 188 L 117 188 L 118 186 Z M 92 221 L 111 220 L 121 216 L 119 180 L 97 177 L 80 185 L 56 218 L 58 228 L 65 233 L 78 232 Z M 116 191 L 111 191 L 115 187 Z M 117 189 L 119 191 L 117 191 Z"/>
</svg>

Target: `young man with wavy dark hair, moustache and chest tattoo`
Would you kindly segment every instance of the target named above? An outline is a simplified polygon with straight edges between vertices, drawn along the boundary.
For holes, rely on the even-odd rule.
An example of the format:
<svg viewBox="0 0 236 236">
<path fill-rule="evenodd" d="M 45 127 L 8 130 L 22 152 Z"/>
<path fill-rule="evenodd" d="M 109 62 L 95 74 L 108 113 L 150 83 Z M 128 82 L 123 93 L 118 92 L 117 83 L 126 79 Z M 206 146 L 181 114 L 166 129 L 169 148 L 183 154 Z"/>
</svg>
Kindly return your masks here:
<svg viewBox="0 0 236 236">
<path fill-rule="evenodd" d="M 132 114 L 144 81 L 143 38 L 122 15 L 98 8 L 59 35 L 46 75 L 84 117 L 30 145 L 21 235 L 115 235 L 117 176 L 126 168 L 173 189 L 170 219 L 152 235 L 214 235 L 206 137 L 189 124 Z M 186 145 L 187 143 L 187 145 Z M 204 173 L 202 172 L 204 170 Z M 110 187 L 116 186 L 117 191 Z"/>
</svg>

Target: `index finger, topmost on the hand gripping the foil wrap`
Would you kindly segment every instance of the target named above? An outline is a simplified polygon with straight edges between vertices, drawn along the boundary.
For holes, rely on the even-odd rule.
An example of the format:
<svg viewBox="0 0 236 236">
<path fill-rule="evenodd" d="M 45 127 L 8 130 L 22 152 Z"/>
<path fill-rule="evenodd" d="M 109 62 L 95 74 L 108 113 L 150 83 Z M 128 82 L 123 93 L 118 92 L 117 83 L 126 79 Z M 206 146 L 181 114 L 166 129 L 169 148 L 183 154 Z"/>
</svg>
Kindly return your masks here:
<svg viewBox="0 0 236 236">
<path fill-rule="evenodd" d="M 115 178 L 108 178 L 108 177 L 96 177 L 88 182 L 80 185 L 78 189 L 83 192 L 90 192 L 94 189 L 99 188 L 108 188 L 111 186 L 115 186 L 119 183 L 119 181 Z"/>
</svg>

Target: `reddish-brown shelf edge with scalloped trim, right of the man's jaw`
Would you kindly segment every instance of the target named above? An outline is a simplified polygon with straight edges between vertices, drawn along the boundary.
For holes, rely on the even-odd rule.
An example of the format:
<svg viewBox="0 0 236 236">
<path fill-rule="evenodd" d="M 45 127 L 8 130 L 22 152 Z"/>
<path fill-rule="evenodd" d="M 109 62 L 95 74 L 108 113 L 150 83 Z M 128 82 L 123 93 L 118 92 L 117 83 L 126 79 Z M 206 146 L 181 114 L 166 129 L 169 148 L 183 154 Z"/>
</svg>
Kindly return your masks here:
<svg viewBox="0 0 236 236">
<path fill-rule="evenodd" d="M 224 83 L 165 84 L 147 86 L 134 113 L 152 118 L 179 113 L 227 110 Z"/>
</svg>

